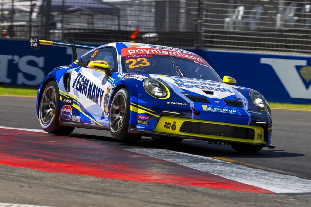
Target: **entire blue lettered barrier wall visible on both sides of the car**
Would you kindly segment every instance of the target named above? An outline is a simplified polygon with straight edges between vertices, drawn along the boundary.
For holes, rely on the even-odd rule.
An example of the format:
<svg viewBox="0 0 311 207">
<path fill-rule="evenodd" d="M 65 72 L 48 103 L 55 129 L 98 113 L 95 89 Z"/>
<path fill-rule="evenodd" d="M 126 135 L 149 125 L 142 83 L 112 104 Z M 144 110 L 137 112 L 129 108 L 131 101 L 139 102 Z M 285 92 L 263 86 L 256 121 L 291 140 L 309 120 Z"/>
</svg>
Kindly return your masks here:
<svg viewBox="0 0 311 207">
<path fill-rule="evenodd" d="M 86 50 L 78 51 L 78 56 Z M 192 50 L 223 77 L 262 93 L 270 102 L 311 102 L 311 57 Z M 39 86 L 55 67 L 72 62 L 71 49 L 29 47 L 28 41 L 0 40 L 0 83 Z"/>
</svg>

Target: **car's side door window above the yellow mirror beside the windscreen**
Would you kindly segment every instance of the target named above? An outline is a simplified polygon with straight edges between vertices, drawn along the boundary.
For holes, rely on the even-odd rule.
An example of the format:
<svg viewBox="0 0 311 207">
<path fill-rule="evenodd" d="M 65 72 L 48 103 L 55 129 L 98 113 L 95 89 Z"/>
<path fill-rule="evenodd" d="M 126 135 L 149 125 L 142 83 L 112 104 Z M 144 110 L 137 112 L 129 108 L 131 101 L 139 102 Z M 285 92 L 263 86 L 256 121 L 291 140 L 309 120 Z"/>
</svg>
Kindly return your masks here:
<svg viewBox="0 0 311 207">
<path fill-rule="evenodd" d="M 100 49 L 94 58 L 95 61 L 106 61 L 111 71 L 118 71 L 117 52 L 114 47 Z"/>
</svg>

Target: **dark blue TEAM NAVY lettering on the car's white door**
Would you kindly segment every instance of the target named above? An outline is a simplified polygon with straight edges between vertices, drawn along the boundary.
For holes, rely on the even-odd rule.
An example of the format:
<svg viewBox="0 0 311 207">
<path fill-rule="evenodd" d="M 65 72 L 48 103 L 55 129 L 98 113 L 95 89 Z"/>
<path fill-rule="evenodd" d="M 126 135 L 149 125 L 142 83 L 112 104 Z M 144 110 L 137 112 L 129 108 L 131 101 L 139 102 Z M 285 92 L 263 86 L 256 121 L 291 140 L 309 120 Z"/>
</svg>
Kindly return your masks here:
<svg viewBox="0 0 311 207">
<path fill-rule="evenodd" d="M 74 80 L 72 88 L 99 106 L 104 106 L 104 90 L 92 83 L 81 72 L 78 73 L 77 78 Z"/>
</svg>

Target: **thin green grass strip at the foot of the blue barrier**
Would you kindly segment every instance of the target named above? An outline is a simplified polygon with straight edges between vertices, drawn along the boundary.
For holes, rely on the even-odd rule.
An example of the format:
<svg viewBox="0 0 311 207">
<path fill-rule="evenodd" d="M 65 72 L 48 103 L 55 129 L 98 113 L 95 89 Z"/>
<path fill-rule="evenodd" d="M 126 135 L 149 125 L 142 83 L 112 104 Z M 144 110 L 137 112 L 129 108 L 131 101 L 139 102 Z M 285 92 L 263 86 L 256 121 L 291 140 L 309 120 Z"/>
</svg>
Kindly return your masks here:
<svg viewBox="0 0 311 207">
<path fill-rule="evenodd" d="M 8 85 L 0 85 L 0 95 L 15 95 L 15 96 L 37 96 L 37 88 L 18 88 Z M 291 109 L 309 109 L 311 104 L 283 104 L 283 103 L 269 103 L 271 108 L 291 108 Z"/>
</svg>

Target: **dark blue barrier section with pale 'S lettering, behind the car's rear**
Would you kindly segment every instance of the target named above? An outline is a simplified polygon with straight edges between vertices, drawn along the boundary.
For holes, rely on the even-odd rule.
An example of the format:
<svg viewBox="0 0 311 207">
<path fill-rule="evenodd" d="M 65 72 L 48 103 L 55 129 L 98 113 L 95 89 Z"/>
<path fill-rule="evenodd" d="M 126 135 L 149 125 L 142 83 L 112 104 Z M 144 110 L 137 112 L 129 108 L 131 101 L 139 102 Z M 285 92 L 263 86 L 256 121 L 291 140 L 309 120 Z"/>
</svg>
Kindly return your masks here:
<svg viewBox="0 0 311 207">
<path fill-rule="evenodd" d="M 39 87 L 51 70 L 72 62 L 66 48 L 41 47 L 34 50 L 27 41 L 0 40 L 0 83 Z"/>
</svg>

